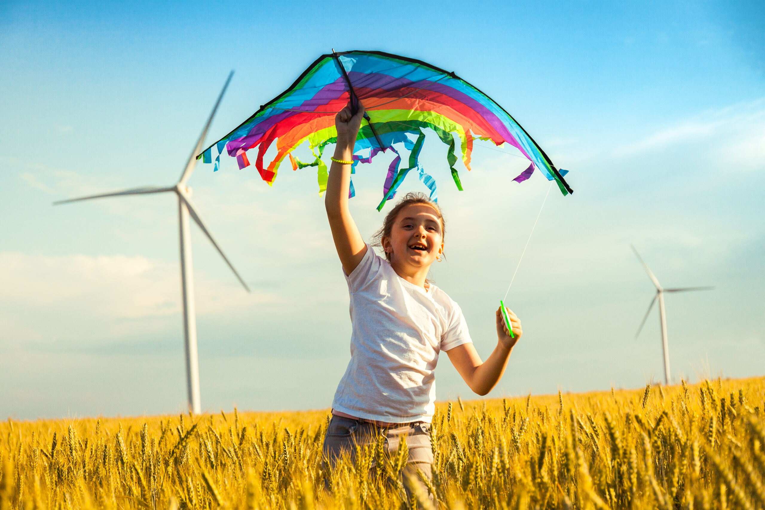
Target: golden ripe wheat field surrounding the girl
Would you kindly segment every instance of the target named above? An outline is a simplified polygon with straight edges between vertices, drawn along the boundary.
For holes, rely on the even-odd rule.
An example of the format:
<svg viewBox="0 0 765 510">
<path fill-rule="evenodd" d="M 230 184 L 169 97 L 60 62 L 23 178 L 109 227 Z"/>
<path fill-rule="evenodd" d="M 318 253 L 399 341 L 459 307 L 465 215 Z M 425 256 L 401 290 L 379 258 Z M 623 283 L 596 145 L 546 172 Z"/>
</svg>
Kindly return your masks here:
<svg viewBox="0 0 765 510">
<path fill-rule="evenodd" d="M 402 479 L 403 444 L 326 469 L 327 411 L 9 419 L 0 510 L 765 509 L 763 397 L 750 378 L 440 403 L 432 481 Z"/>
</svg>

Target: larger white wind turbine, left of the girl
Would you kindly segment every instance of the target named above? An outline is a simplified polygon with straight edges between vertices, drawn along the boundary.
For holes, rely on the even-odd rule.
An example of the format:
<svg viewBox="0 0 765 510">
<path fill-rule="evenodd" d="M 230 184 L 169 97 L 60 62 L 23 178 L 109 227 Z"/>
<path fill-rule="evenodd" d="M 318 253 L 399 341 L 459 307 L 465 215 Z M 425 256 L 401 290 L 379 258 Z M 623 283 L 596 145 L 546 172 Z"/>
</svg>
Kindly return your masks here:
<svg viewBox="0 0 765 510">
<path fill-rule="evenodd" d="M 246 291 L 249 292 L 249 287 L 247 287 L 247 284 L 244 282 L 241 276 L 239 276 L 239 273 L 236 272 L 236 269 L 234 269 L 234 266 L 231 264 L 231 261 L 226 257 L 226 255 L 223 253 L 223 250 L 220 249 L 220 246 L 213 238 L 213 235 L 210 233 L 210 230 L 207 229 L 207 226 L 204 225 L 204 222 L 202 221 L 202 217 L 200 216 L 197 206 L 194 205 L 194 202 L 191 201 L 191 188 L 186 185 L 187 181 L 189 180 L 189 177 L 191 177 L 191 172 L 194 171 L 194 167 L 197 164 L 197 154 L 200 153 L 202 150 L 202 146 L 204 143 L 204 138 L 207 136 L 207 130 L 210 128 L 210 123 L 213 122 L 213 117 L 215 116 L 215 112 L 218 109 L 218 105 L 220 105 L 220 100 L 223 99 L 223 94 L 226 93 L 226 88 L 229 86 L 229 82 L 231 81 L 231 77 L 233 76 L 234 72 L 231 71 L 229 73 L 228 80 L 226 80 L 226 84 L 223 85 L 223 90 L 220 91 L 220 96 L 218 96 L 218 100 L 215 102 L 215 106 L 213 107 L 213 111 L 210 112 L 210 118 L 207 119 L 207 123 L 204 125 L 204 128 L 202 129 L 202 134 L 199 136 L 199 139 L 197 140 L 197 144 L 194 145 L 194 148 L 191 150 L 191 155 L 189 156 L 189 159 L 186 163 L 186 166 L 184 167 L 184 171 L 181 174 L 181 179 L 178 180 L 174 186 L 170 187 L 138 187 L 138 188 L 132 188 L 129 190 L 122 190 L 122 191 L 116 191 L 113 193 L 103 193 L 99 195 L 90 195 L 88 197 L 79 197 L 79 198 L 72 198 L 69 200 L 60 200 L 58 202 L 54 202 L 54 205 L 58 205 L 61 203 L 70 203 L 70 202 L 79 202 L 80 200 L 91 200 L 94 198 L 104 198 L 104 197 L 120 197 L 122 195 L 146 195 L 149 193 L 175 193 L 178 197 L 178 226 L 180 227 L 180 235 L 181 235 L 181 296 L 183 297 L 183 303 L 184 303 L 184 337 L 185 337 L 185 346 L 186 346 L 186 383 L 188 388 L 188 404 L 190 411 L 192 411 L 194 414 L 200 414 L 202 412 L 202 405 L 200 403 L 200 393 L 199 393 L 199 356 L 197 354 L 197 317 L 196 317 L 196 311 L 194 310 L 194 272 L 193 268 L 191 267 L 191 236 L 190 236 L 190 230 L 189 230 L 189 216 L 191 216 L 192 219 L 194 219 L 194 222 L 197 223 L 200 229 L 202 229 L 202 232 L 204 232 L 204 235 L 207 236 L 207 239 L 210 239 L 210 242 L 213 243 L 213 246 L 215 246 L 215 249 L 220 253 L 220 256 L 223 257 L 223 260 L 226 261 L 226 264 L 231 268 L 231 271 L 236 275 L 236 278 L 239 280 L 239 283 L 245 287 Z"/>
</svg>

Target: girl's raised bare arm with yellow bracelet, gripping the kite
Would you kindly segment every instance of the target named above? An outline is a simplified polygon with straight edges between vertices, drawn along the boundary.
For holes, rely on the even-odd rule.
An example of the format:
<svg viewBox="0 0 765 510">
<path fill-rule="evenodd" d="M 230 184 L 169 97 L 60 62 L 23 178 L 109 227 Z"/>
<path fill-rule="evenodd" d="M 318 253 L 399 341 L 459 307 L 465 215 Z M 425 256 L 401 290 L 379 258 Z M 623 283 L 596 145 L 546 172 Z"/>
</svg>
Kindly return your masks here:
<svg viewBox="0 0 765 510">
<path fill-rule="evenodd" d="M 350 114 L 350 105 L 335 115 L 337 145 L 335 145 L 335 154 L 327 180 L 327 194 L 324 197 L 332 239 L 334 239 L 337 255 L 340 257 L 345 274 L 350 274 L 359 265 L 366 254 L 366 244 L 348 209 L 351 165 L 338 163 L 335 160 L 350 162 L 353 159 L 353 145 L 356 143 L 356 135 L 363 115 L 364 107 L 360 103 L 356 115 Z"/>
</svg>

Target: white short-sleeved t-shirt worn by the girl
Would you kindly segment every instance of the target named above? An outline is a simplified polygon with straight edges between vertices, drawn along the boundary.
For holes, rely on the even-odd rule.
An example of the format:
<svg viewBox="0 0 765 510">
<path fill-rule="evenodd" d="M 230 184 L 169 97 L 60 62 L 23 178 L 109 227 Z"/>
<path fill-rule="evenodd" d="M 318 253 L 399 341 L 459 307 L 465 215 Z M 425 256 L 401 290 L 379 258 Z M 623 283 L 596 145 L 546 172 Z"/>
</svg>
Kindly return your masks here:
<svg viewBox="0 0 765 510">
<path fill-rule="evenodd" d="M 462 310 L 435 285 L 425 291 L 401 278 L 368 245 L 346 280 L 350 362 L 332 408 L 367 420 L 430 422 L 438 353 L 472 342 Z"/>
</svg>

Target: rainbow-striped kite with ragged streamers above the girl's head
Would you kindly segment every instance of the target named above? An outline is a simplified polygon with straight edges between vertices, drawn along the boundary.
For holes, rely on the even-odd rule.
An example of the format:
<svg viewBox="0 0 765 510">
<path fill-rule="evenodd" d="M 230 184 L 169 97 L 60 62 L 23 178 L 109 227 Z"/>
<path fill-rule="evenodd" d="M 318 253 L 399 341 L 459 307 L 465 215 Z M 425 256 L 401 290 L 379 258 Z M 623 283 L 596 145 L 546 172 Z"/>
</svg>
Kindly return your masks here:
<svg viewBox="0 0 765 510">
<path fill-rule="evenodd" d="M 390 164 L 383 187 L 382 209 L 409 171 L 415 170 L 420 180 L 436 199 L 435 179 L 425 173 L 419 163 L 423 128 L 431 128 L 448 145 L 447 161 L 458 190 L 460 176 L 454 168 L 454 134 L 460 139 L 461 156 L 470 170 L 470 153 L 474 139 L 508 143 L 516 147 L 531 164 L 517 182 L 528 179 L 538 169 L 548 180 L 555 180 L 564 195 L 573 193 L 545 151 L 526 133 L 508 112 L 476 87 L 454 73 L 431 66 L 421 60 L 399 57 L 380 51 L 343 51 L 319 57 L 285 92 L 269 101 L 225 137 L 210 145 L 197 159 L 211 163 L 213 146 L 220 166 L 223 149 L 236 158 L 239 168 L 249 166 L 247 151 L 258 148 L 255 166 L 260 176 L 273 184 L 279 165 L 289 158 L 293 170 L 318 167 L 319 193 L 327 189 L 327 165 L 321 155 L 328 144 L 337 141 L 334 119 L 337 112 L 351 102 L 360 101 L 366 109 L 353 150 L 353 173 L 359 162 L 368 163 L 380 152 L 391 149 L 396 158 Z M 268 167 L 263 156 L 276 141 L 277 154 Z M 315 160 L 303 163 L 291 152 L 308 141 Z M 409 150 L 407 167 L 400 168 L 399 151 L 393 145 L 403 144 Z M 400 148 L 399 148 L 400 150 Z M 353 183 L 350 196 L 353 197 Z"/>
</svg>

